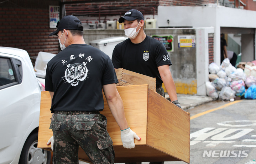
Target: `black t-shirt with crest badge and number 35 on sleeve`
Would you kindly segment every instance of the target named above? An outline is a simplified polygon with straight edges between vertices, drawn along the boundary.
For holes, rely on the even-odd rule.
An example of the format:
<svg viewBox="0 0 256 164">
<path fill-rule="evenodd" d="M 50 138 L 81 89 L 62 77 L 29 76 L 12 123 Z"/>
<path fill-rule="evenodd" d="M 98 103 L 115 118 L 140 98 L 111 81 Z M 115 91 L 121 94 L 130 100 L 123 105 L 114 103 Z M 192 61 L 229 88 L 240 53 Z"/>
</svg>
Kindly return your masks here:
<svg viewBox="0 0 256 164">
<path fill-rule="evenodd" d="M 139 44 L 130 39 L 117 44 L 113 50 L 112 62 L 115 68 L 124 68 L 136 73 L 156 78 L 156 84 L 162 85 L 159 66 L 171 65 L 164 45 L 150 36 Z"/>
</svg>

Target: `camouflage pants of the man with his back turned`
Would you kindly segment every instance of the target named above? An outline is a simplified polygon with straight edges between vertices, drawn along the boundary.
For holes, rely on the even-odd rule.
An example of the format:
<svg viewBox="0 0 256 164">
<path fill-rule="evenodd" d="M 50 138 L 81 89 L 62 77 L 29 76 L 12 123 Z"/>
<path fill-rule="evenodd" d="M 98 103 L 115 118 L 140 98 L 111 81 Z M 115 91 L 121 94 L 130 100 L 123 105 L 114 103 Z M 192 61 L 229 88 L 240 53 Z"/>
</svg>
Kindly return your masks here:
<svg viewBox="0 0 256 164">
<path fill-rule="evenodd" d="M 53 164 L 78 164 L 79 146 L 94 164 L 114 164 L 113 141 L 106 117 L 93 112 L 54 112 Z"/>
</svg>

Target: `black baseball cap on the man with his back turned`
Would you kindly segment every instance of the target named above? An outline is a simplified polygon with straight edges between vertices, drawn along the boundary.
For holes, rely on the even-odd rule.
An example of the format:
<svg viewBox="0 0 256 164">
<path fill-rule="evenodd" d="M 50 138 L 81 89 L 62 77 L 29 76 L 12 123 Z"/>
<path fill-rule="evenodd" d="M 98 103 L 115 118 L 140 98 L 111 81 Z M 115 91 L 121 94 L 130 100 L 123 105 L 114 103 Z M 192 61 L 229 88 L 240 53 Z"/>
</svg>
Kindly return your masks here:
<svg viewBox="0 0 256 164">
<path fill-rule="evenodd" d="M 81 25 L 79 25 L 81 24 Z M 79 25 L 79 26 L 78 26 Z M 57 30 L 49 34 L 49 36 L 57 35 L 60 30 L 67 29 L 67 30 L 80 30 L 83 31 L 84 27 L 82 22 L 73 15 L 64 16 L 60 21 L 57 23 Z"/>
</svg>

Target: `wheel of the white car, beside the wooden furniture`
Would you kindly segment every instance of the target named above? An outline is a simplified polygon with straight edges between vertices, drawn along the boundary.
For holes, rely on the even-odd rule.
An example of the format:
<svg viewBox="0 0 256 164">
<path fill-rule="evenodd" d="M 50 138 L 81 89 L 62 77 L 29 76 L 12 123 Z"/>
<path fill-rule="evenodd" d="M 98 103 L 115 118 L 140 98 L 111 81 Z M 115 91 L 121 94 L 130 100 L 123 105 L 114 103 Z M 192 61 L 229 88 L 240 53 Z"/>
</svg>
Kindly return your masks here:
<svg viewBox="0 0 256 164">
<path fill-rule="evenodd" d="M 19 164 L 49 164 L 51 152 L 37 147 L 38 134 L 29 136 L 22 148 Z"/>
</svg>

